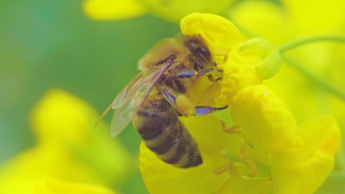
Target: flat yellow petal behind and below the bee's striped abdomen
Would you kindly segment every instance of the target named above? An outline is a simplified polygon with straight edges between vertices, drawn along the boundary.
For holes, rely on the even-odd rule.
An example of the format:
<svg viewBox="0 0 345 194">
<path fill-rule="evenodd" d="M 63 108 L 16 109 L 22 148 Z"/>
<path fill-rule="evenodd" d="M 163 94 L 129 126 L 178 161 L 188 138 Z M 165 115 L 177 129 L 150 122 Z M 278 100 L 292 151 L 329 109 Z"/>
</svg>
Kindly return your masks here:
<svg viewBox="0 0 345 194">
<path fill-rule="evenodd" d="M 159 160 L 142 144 L 140 146 L 140 171 L 150 193 L 212 193 L 229 178 L 227 173 L 215 175 L 223 166 L 223 149 L 237 154 L 243 144 L 238 136 L 223 133 L 220 121 L 210 115 L 181 117 L 183 124 L 198 144 L 203 164 L 181 169 Z"/>
</svg>

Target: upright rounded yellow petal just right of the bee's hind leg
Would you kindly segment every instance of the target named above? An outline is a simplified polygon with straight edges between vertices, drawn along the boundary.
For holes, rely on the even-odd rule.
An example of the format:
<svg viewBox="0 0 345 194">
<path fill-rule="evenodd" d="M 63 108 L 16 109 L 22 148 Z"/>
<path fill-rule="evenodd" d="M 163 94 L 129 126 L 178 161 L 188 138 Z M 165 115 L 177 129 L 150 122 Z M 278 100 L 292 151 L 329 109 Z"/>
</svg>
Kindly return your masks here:
<svg viewBox="0 0 345 194">
<path fill-rule="evenodd" d="M 234 98 L 231 115 L 256 148 L 266 153 L 299 146 L 293 115 L 273 92 L 262 85 L 249 86 Z"/>
</svg>

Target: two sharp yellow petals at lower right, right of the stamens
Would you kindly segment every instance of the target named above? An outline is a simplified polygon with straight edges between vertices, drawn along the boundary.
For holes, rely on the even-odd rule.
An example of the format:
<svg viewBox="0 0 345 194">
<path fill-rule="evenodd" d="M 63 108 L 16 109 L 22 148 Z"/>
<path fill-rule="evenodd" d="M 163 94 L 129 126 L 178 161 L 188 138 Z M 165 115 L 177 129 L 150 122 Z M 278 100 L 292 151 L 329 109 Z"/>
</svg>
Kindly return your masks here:
<svg viewBox="0 0 345 194">
<path fill-rule="evenodd" d="M 332 171 L 340 139 L 332 116 L 297 127 L 281 100 L 262 85 L 242 90 L 231 114 L 254 150 L 271 155 L 274 193 L 313 193 Z"/>
</svg>

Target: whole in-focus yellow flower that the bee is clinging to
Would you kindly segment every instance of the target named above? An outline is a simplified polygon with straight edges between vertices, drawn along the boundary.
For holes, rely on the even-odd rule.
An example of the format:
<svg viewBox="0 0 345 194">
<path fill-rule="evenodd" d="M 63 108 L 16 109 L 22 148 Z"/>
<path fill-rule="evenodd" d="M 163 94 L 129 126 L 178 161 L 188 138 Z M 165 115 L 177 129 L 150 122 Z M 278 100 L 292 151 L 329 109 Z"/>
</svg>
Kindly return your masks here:
<svg viewBox="0 0 345 194">
<path fill-rule="evenodd" d="M 201 34 L 224 71 L 221 83 L 209 85 L 200 99 L 231 104 L 231 117 L 222 111 L 180 118 L 203 157 L 195 168 L 168 165 L 141 144 L 140 170 L 149 192 L 314 192 L 334 166 L 340 136 L 335 120 L 323 116 L 298 127 L 282 101 L 259 85 L 279 69 L 279 55 L 262 39 L 244 42 L 231 22 L 209 14 L 187 16 L 181 30 Z M 258 64 L 265 71 L 257 71 Z"/>
</svg>

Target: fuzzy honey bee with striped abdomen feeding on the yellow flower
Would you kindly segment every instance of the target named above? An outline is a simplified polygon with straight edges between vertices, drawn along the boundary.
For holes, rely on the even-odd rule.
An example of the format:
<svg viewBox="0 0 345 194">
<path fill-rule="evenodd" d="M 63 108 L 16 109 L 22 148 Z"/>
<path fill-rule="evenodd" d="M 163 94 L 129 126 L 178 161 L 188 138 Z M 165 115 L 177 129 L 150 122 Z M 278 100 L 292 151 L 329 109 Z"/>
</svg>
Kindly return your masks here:
<svg viewBox="0 0 345 194">
<path fill-rule="evenodd" d="M 179 168 L 202 164 L 197 142 L 178 117 L 227 107 L 194 106 L 186 95 L 197 77 L 210 75 L 216 69 L 203 38 L 166 38 L 139 60 L 138 69 L 141 72 L 119 93 L 100 120 L 114 109 L 112 136 L 133 121 L 144 144 L 163 162 Z"/>
</svg>

